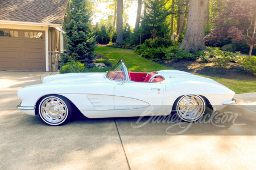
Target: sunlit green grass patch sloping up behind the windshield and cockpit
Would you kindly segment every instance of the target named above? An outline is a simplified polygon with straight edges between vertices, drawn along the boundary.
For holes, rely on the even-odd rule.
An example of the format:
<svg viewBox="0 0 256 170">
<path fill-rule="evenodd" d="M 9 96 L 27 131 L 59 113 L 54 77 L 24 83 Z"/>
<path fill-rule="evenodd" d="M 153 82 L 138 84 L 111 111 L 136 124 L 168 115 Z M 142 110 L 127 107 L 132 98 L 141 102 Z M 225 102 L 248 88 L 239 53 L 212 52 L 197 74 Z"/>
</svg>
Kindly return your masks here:
<svg viewBox="0 0 256 170">
<path fill-rule="evenodd" d="M 98 46 L 95 52 L 109 58 L 112 66 L 114 66 L 120 59 L 123 59 L 129 71 L 151 72 L 157 70 L 172 70 L 170 67 L 159 65 L 158 63 L 154 63 L 146 58 L 138 56 L 133 50 Z"/>
</svg>

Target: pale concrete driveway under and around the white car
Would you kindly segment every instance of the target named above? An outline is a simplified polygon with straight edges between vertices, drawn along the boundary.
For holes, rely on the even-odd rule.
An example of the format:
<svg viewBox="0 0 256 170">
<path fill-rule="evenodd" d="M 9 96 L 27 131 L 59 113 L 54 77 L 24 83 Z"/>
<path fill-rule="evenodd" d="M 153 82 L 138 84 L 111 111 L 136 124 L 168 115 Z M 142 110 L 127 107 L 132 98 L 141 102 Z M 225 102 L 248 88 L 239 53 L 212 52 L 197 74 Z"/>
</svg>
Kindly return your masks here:
<svg viewBox="0 0 256 170">
<path fill-rule="evenodd" d="M 138 128 L 148 118 L 137 124 L 138 117 L 89 119 L 76 114 L 55 127 L 16 109 L 19 88 L 42 83 L 49 74 L 55 73 L 0 71 L 0 169 L 256 167 L 256 93 L 236 95 L 236 104 L 216 113 L 236 114 L 235 121 L 177 124 L 155 118 Z"/>
</svg>

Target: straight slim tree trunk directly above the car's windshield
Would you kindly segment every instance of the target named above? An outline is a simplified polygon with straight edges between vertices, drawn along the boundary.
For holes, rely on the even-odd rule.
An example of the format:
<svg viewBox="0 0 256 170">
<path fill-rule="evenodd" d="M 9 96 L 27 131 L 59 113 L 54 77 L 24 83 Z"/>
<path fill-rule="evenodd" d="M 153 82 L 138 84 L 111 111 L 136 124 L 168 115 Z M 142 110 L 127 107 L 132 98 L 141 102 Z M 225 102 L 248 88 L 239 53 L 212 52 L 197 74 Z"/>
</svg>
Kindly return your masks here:
<svg viewBox="0 0 256 170">
<path fill-rule="evenodd" d="M 123 0 L 117 0 L 117 44 L 123 44 Z"/>
</svg>

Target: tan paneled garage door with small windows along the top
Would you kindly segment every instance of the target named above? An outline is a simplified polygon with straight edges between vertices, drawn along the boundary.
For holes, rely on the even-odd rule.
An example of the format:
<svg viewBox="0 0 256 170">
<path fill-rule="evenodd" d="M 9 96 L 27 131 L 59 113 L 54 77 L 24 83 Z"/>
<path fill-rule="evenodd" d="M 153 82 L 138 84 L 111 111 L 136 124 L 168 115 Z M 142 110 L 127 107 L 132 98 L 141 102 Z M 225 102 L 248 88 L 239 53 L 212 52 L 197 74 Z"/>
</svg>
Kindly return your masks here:
<svg viewBox="0 0 256 170">
<path fill-rule="evenodd" d="M 45 32 L 0 28 L 0 70 L 46 71 Z"/>
</svg>

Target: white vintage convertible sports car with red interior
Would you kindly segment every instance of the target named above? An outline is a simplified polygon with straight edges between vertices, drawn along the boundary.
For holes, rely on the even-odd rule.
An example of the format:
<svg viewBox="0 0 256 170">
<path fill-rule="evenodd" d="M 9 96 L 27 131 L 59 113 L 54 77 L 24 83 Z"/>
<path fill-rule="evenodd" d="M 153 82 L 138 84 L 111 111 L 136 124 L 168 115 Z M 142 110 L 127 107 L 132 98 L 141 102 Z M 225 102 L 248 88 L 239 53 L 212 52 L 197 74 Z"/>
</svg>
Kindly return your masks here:
<svg viewBox="0 0 256 170">
<path fill-rule="evenodd" d="M 46 76 L 42 84 L 23 87 L 17 108 L 39 114 L 48 125 L 61 125 L 77 108 L 89 118 L 149 116 L 176 113 L 182 120 L 199 120 L 205 108 L 220 110 L 235 103 L 234 92 L 212 79 L 184 71 L 127 71 L 122 59 L 107 73 Z"/>
</svg>

